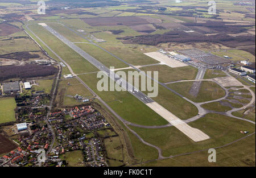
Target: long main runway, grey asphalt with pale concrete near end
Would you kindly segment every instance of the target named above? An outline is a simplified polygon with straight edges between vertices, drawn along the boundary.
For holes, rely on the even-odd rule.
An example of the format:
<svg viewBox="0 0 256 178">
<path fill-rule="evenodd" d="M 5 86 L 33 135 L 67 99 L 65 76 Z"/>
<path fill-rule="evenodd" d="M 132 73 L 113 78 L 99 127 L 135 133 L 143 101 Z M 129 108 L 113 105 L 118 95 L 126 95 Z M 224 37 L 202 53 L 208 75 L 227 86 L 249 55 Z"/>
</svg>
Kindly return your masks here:
<svg viewBox="0 0 256 178">
<path fill-rule="evenodd" d="M 187 125 L 184 121 L 177 118 L 174 114 L 172 114 L 170 111 L 164 109 L 163 106 L 157 104 L 154 100 L 147 97 L 146 94 L 139 91 L 137 88 L 134 88 L 133 85 L 131 85 L 126 80 L 123 80 L 123 78 L 119 77 L 117 74 L 115 74 L 113 71 L 110 71 L 109 68 L 107 68 L 105 65 L 100 63 L 97 59 L 90 56 L 88 53 L 83 51 L 81 48 L 79 48 L 77 45 L 70 42 L 67 38 L 60 35 L 58 32 L 53 30 L 53 28 L 47 26 L 45 23 L 39 23 L 41 26 L 46 28 L 51 34 L 55 35 L 58 39 L 61 40 L 64 44 L 68 45 L 71 49 L 79 53 L 80 56 L 84 57 L 84 59 L 88 60 L 89 63 L 93 64 L 96 68 L 100 69 L 103 73 L 105 73 L 110 79 L 112 79 L 115 82 L 120 82 L 123 85 L 123 88 L 128 89 L 127 91 L 138 100 L 142 101 L 144 104 L 146 104 L 148 107 L 150 107 L 152 110 L 154 110 L 156 113 L 161 115 L 164 119 L 166 119 L 168 122 L 170 122 L 172 125 L 174 125 L 177 129 L 179 129 L 181 132 L 183 132 L 185 135 L 187 135 L 189 138 L 191 138 L 195 142 L 199 142 L 201 140 L 209 139 L 209 136 L 204 134 L 202 131 L 192 128 Z"/>
</svg>

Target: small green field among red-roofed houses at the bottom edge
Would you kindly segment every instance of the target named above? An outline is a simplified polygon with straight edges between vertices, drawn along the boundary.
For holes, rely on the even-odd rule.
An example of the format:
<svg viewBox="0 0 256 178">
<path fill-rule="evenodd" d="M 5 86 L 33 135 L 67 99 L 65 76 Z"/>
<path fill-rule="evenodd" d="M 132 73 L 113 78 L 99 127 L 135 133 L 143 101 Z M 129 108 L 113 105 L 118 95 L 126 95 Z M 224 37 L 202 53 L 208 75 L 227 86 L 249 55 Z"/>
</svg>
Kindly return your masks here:
<svg viewBox="0 0 256 178">
<path fill-rule="evenodd" d="M 68 167 L 83 167 L 84 156 L 81 150 L 65 152 L 65 155 L 61 155 L 60 159 L 68 162 Z"/>
</svg>

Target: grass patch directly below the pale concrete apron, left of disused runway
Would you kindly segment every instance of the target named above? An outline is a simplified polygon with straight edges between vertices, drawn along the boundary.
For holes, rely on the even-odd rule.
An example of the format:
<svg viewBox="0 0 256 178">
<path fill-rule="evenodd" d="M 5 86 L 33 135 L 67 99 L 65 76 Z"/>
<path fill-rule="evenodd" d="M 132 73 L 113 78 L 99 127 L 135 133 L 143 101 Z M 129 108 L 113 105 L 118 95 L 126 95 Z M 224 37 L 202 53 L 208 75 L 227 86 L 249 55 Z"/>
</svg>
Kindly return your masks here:
<svg viewBox="0 0 256 178">
<path fill-rule="evenodd" d="M 171 68 L 167 65 L 152 65 L 140 68 L 142 71 L 158 71 L 160 82 L 170 82 L 178 80 L 194 80 L 198 69 L 192 66 Z"/>
</svg>

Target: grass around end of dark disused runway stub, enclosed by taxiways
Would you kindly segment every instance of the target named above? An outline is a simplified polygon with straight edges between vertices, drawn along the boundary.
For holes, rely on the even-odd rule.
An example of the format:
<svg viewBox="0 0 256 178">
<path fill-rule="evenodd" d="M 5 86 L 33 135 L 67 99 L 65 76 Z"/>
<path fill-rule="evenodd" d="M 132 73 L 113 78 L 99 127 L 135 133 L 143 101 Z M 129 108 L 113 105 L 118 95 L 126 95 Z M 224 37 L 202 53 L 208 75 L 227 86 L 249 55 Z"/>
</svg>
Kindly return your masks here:
<svg viewBox="0 0 256 178">
<path fill-rule="evenodd" d="M 194 97 L 189 94 L 192 84 L 193 82 L 177 82 L 167 86 L 194 102 L 211 101 L 225 96 L 225 90 L 220 85 L 212 81 L 202 81 L 199 93 L 197 97 Z"/>
</svg>

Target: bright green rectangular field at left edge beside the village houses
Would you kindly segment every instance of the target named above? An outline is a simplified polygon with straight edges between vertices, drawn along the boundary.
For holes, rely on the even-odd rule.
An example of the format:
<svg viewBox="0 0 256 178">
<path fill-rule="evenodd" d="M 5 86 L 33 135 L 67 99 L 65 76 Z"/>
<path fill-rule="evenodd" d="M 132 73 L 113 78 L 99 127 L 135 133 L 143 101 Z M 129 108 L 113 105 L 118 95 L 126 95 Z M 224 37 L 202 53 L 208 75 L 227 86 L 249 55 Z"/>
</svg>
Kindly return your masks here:
<svg viewBox="0 0 256 178">
<path fill-rule="evenodd" d="M 15 121 L 14 98 L 0 98 L 0 123 Z"/>
</svg>

